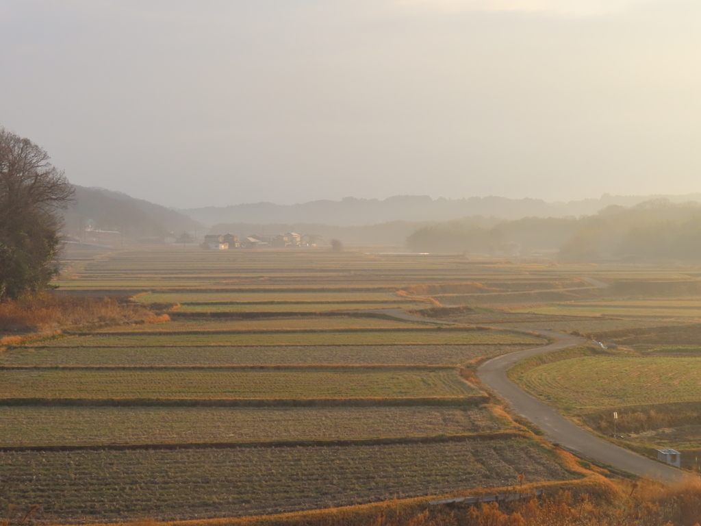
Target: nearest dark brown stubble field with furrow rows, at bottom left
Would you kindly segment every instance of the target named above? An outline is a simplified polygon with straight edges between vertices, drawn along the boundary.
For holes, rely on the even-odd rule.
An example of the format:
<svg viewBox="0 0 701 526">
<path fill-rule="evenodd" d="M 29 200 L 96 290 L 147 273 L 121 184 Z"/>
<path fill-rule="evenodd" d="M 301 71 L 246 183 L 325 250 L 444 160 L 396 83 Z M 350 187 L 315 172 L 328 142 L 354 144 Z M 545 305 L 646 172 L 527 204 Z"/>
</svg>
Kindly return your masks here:
<svg viewBox="0 0 701 526">
<path fill-rule="evenodd" d="M 232 450 L 0 453 L 8 499 L 53 522 L 212 518 L 573 478 L 529 440 Z M 90 483 L 86 483 L 89 480 Z"/>
</svg>

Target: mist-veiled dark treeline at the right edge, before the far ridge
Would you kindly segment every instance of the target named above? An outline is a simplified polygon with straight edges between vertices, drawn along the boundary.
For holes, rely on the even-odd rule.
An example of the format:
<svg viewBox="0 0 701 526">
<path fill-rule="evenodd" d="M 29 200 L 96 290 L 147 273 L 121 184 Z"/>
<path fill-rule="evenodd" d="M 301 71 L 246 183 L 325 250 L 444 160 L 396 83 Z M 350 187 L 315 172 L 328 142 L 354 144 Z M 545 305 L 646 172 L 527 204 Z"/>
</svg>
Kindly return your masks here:
<svg viewBox="0 0 701 526">
<path fill-rule="evenodd" d="M 701 259 L 701 205 L 655 199 L 579 218 L 526 217 L 494 226 L 437 223 L 414 231 L 407 245 L 415 252 L 490 255 L 557 251 L 573 261 Z"/>
</svg>

